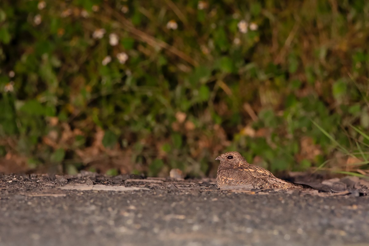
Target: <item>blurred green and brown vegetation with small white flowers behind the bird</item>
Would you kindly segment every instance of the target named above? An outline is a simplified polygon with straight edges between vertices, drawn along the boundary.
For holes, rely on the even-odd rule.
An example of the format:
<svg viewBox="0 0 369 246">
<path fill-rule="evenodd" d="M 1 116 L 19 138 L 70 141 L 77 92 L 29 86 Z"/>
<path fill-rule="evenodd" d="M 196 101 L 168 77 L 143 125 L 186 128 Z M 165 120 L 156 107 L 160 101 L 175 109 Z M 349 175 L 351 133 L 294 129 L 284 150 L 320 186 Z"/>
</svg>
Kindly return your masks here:
<svg viewBox="0 0 369 246">
<path fill-rule="evenodd" d="M 1 0 L 0 172 L 368 174 L 368 43 L 362 0 Z"/>
</svg>

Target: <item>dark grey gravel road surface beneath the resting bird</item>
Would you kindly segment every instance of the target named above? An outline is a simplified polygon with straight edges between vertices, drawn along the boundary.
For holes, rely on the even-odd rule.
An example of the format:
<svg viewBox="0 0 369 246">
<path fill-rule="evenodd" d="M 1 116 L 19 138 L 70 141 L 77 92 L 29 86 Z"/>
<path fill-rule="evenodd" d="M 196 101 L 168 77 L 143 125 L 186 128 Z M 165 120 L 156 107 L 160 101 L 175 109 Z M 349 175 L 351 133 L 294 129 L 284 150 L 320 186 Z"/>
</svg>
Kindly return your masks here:
<svg viewBox="0 0 369 246">
<path fill-rule="evenodd" d="M 369 245 L 368 181 L 308 184 L 331 190 L 219 190 L 212 179 L 87 172 L 0 175 L 0 245 Z"/>
</svg>

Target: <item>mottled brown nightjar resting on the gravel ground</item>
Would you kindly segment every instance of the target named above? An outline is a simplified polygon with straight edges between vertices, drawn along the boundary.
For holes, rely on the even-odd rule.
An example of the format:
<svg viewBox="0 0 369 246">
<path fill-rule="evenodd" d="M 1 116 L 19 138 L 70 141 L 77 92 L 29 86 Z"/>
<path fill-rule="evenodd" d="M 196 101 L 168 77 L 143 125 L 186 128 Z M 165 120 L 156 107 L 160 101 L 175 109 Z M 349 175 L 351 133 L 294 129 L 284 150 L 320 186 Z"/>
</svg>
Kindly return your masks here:
<svg viewBox="0 0 369 246">
<path fill-rule="evenodd" d="M 218 187 L 251 185 L 254 188 L 261 189 L 282 188 L 286 190 L 310 188 L 306 185 L 278 179 L 270 171 L 249 164 L 240 153 L 235 151 L 224 153 L 215 160 L 220 160 L 217 173 Z"/>
</svg>

